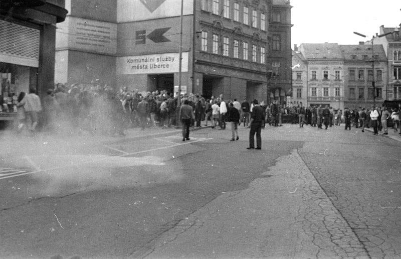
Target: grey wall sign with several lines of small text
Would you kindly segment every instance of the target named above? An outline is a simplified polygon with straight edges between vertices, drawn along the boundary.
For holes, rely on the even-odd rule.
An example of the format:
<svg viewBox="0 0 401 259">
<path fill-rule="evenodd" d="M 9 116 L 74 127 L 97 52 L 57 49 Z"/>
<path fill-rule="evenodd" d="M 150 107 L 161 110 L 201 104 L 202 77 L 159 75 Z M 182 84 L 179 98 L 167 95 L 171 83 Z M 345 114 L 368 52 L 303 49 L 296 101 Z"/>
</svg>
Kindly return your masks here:
<svg viewBox="0 0 401 259">
<path fill-rule="evenodd" d="M 117 53 L 117 24 L 67 16 L 59 27 L 57 37 L 68 40 L 67 46 L 58 41 L 57 47 L 102 54 Z"/>
</svg>

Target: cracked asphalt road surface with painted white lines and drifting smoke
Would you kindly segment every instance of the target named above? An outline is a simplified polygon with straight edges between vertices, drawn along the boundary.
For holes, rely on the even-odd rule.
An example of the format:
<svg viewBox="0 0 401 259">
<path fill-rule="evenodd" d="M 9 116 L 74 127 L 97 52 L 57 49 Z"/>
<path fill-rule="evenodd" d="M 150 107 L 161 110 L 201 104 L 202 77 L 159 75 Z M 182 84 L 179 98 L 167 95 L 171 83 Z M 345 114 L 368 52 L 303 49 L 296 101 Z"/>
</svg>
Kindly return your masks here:
<svg viewBox="0 0 401 259">
<path fill-rule="evenodd" d="M 285 124 L 258 151 L 239 132 L 14 136 L 0 257 L 401 257 L 400 142 Z"/>
</svg>

